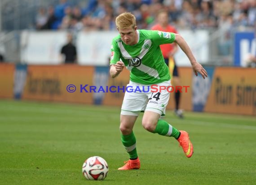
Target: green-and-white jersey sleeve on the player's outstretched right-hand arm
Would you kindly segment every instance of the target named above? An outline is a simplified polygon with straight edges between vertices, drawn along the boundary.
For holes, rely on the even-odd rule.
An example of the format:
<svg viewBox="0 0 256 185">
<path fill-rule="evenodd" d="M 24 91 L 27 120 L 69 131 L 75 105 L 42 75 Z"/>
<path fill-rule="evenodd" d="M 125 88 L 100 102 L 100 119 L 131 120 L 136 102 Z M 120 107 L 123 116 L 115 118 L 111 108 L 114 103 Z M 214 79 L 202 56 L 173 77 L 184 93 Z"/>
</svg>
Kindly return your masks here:
<svg viewBox="0 0 256 185">
<path fill-rule="evenodd" d="M 175 34 L 172 32 L 152 31 L 151 35 L 154 43 L 158 45 L 172 44 L 175 40 Z"/>
</svg>

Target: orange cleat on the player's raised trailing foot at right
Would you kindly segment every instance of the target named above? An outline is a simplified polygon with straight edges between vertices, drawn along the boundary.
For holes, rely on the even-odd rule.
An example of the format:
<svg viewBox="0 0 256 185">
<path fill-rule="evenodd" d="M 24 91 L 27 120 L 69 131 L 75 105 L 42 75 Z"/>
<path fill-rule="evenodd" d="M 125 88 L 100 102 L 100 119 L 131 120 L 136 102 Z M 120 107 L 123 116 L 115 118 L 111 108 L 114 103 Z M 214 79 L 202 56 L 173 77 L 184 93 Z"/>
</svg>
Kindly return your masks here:
<svg viewBox="0 0 256 185">
<path fill-rule="evenodd" d="M 193 145 L 190 141 L 190 137 L 188 132 L 180 130 L 181 135 L 180 137 L 177 139 L 177 141 L 179 141 L 180 146 L 183 148 L 183 151 L 185 153 L 185 155 L 190 158 L 193 155 Z"/>
</svg>

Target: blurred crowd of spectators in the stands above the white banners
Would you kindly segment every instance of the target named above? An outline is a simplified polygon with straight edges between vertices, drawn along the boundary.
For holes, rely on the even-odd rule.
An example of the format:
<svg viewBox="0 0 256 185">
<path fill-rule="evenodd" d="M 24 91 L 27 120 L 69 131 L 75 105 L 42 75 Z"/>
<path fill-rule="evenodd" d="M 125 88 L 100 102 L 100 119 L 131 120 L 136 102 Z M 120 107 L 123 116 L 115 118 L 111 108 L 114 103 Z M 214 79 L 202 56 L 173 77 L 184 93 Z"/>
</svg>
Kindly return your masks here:
<svg viewBox="0 0 256 185">
<path fill-rule="evenodd" d="M 169 12 L 177 28 L 229 30 L 256 26 L 256 0 L 88 0 L 85 7 L 60 0 L 42 7 L 35 18 L 38 30 L 115 30 L 115 17 L 132 12 L 139 29 L 149 29 L 160 9 Z M 225 35 L 225 37 L 228 35 Z"/>
</svg>

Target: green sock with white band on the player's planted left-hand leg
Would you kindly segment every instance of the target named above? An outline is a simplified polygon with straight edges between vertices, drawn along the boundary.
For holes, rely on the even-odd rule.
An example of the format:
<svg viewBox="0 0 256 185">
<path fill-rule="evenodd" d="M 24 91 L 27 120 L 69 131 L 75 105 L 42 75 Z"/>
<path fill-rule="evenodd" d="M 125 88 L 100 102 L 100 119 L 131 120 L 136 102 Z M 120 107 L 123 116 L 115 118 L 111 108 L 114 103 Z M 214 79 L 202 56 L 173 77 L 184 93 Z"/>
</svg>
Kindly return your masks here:
<svg viewBox="0 0 256 185">
<path fill-rule="evenodd" d="M 130 159 L 135 159 L 138 157 L 136 150 L 136 137 L 134 133 L 124 136 L 121 134 L 121 140 L 124 145 L 125 150 L 128 152 Z"/>
</svg>

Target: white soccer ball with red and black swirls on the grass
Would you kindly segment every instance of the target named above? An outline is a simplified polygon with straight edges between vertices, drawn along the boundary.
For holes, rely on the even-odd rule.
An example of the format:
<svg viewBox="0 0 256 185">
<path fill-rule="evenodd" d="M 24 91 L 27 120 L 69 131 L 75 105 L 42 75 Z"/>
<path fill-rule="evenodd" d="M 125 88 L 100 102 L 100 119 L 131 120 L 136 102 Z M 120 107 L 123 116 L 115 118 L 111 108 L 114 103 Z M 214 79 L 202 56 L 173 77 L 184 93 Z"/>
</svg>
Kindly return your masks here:
<svg viewBox="0 0 256 185">
<path fill-rule="evenodd" d="M 108 172 L 105 159 L 93 156 L 84 161 L 82 172 L 88 180 L 104 180 Z"/>
</svg>

